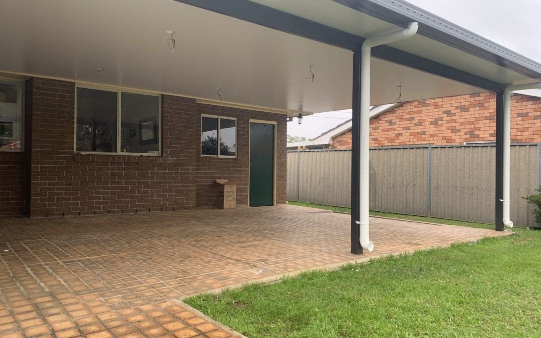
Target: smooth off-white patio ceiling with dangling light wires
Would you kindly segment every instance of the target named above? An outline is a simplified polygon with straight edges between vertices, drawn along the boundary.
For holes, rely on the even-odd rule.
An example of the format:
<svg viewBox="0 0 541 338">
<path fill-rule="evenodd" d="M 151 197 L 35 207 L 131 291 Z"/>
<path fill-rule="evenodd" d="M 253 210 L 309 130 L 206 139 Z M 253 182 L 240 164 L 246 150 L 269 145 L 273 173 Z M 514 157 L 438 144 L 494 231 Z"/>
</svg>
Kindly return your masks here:
<svg viewBox="0 0 541 338">
<path fill-rule="evenodd" d="M 336 6 L 294 3 L 321 20 L 316 4 Z M 355 14 L 341 7 L 337 15 Z M 176 32 L 174 52 L 166 30 Z M 300 101 L 312 112 L 351 108 L 351 51 L 171 0 L 4 0 L 0 31 L 0 71 L 208 100 L 220 87 L 224 101 L 291 111 Z M 396 102 L 397 85 L 401 101 L 481 91 L 377 59 L 372 75 L 372 105 Z"/>
</svg>

